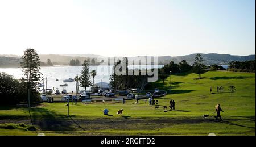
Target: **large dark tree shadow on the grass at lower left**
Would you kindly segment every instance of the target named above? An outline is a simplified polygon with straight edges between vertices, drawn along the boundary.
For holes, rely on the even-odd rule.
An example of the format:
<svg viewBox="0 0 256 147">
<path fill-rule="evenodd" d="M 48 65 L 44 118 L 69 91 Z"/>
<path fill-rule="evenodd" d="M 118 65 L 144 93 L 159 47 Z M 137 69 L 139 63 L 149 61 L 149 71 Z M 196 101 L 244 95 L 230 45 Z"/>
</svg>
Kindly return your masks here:
<svg viewBox="0 0 256 147">
<path fill-rule="evenodd" d="M 67 115 L 60 115 L 46 108 L 31 108 L 32 122 L 42 130 L 72 131 L 75 128 Z"/>
</svg>

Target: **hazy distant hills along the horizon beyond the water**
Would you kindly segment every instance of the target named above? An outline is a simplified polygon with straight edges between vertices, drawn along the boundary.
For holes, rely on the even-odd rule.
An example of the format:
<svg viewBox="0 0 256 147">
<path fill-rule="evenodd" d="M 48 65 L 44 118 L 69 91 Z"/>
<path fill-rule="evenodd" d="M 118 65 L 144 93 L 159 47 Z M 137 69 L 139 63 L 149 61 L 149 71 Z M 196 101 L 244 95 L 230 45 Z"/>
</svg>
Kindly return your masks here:
<svg viewBox="0 0 256 147">
<path fill-rule="evenodd" d="M 159 56 L 158 64 L 168 64 L 170 61 L 174 61 L 175 63 L 179 63 L 181 60 L 186 60 L 188 64 L 192 64 L 195 60 L 195 54 L 189 54 L 185 56 Z M 201 54 L 204 58 L 205 64 L 228 64 L 231 61 L 247 61 L 247 60 L 255 60 L 255 54 L 249 56 L 234 56 L 230 54 L 217 54 L 217 53 L 209 53 L 209 54 Z M 128 60 L 137 60 L 139 57 L 128 57 Z M 69 61 L 72 59 L 78 59 L 81 61 L 87 60 L 90 58 L 97 59 L 96 62 L 101 62 L 101 60 L 106 60 L 108 57 L 99 56 L 96 54 L 39 54 L 39 58 L 41 62 L 47 62 L 47 59 L 51 59 L 53 65 L 69 65 Z M 122 57 L 119 57 L 122 58 Z M 114 57 L 109 57 L 110 60 L 114 60 Z M 16 55 L 0 55 L 0 67 L 18 67 L 20 62 L 20 56 Z M 145 64 L 145 62 L 141 62 L 141 64 Z"/>
</svg>

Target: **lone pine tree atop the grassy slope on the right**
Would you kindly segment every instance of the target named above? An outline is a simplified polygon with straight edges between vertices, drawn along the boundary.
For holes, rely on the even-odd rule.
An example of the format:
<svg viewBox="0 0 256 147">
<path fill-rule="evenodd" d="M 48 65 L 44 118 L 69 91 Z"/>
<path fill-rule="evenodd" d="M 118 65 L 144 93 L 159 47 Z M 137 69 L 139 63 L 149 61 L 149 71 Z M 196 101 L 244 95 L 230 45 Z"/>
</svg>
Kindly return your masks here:
<svg viewBox="0 0 256 147">
<path fill-rule="evenodd" d="M 199 79 L 201 79 L 201 74 L 206 72 L 204 60 L 201 54 L 197 54 L 195 57 L 195 62 L 193 63 L 193 72 L 199 74 Z"/>
</svg>

